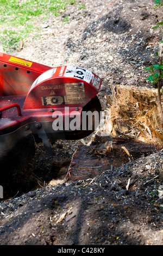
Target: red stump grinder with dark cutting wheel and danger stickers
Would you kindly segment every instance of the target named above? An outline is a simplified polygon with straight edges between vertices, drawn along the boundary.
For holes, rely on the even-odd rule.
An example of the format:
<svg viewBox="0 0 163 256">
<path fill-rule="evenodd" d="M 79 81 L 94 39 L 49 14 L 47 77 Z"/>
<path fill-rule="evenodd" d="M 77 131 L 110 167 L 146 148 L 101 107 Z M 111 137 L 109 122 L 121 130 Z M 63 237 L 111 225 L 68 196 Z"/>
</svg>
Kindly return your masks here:
<svg viewBox="0 0 163 256">
<path fill-rule="evenodd" d="M 51 68 L 0 53 L 0 173 L 11 174 L 26 165 L 37 143 L 43 142 L 47 154 L 53 155 L 58 139 L 90 135 L 96 127 L 89 129 L 87 120 L 83 130 L 82 113 L 101 112 L 97 97 L 101 82 L 84 68 Z M 72 129 L 75 115 L 81 122 Z M 95 115 L 91 121 L 95 123 Z"/>
</svg>

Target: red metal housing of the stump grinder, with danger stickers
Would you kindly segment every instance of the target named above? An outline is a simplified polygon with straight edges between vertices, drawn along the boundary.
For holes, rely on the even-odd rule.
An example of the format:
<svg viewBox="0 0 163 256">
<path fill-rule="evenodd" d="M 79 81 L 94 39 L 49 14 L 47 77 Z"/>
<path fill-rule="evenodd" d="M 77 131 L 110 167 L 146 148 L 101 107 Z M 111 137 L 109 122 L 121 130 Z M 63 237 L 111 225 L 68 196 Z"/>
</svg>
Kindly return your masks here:
<svg viewBox="0 0 163 256">
<path fill-rule="evenodd" d="M 0 119 L 0 134 L 7 128 L 24 125 L 27 120 L 54 121 L 52 111 L 64 112 L 66 106 L 70 107 L 70 112 L 77 107 L 81 112 L 101 86 L 101 79 L 83 68 L 51 68 L 1 55 L 0 112 L 1 119 L 7 119 L 5 122 Z"/>
</svg>

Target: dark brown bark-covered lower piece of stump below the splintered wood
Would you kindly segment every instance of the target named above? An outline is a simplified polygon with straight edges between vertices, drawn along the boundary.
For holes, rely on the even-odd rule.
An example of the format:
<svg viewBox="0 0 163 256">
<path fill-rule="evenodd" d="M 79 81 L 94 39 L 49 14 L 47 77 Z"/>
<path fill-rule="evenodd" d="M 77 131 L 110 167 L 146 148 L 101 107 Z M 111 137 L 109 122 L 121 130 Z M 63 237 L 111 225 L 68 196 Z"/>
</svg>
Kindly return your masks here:
<svg viewBox="0 0 163 256">
<path fill-rule="evenodd" d="M 109 150 L 106 150 L 106 143 L 102 141 L 95 141 L 89 146 L 79 144 L 72 157 L 66 180 L 71 182 L 90 179 L 105 170 L 122 166 L 124 163 L 143 155 L 153 154 L 162 148 L 156 144 L 124 138 L 114 138 Z"/>
</svg>

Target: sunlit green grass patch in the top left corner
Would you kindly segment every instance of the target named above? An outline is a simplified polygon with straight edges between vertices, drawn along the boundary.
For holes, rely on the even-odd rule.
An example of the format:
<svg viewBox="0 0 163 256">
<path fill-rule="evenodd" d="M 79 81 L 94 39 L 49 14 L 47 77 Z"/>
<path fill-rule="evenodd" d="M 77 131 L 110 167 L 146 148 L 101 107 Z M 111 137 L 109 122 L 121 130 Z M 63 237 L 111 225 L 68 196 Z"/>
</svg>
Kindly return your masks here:
<svg viewBox="0 0 163 256">
<path fill-rule="evenodd" d="M 35 21 L 40 16 L 43 20 L 49 13 L 58 16 L 61 9 L 66 10 L 67 4 L 75 3 L 76 0 L 0 0 L 0 44 L 3 50 L 15 51 L 20 40 L 38 29 Z"/>
</svg>

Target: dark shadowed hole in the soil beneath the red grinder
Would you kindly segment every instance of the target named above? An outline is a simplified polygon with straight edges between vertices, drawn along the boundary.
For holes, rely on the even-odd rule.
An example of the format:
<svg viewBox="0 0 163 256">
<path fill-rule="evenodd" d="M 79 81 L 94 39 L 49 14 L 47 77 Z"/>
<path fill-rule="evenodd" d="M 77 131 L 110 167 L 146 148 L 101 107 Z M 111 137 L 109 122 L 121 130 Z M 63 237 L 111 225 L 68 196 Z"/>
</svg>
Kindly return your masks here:
<svg viewBox="0 0 163 256">
<path fill-rule="evenodd" d="M 49 157 L 42 143 L 37 148 L 34 158 L 15 175 L 1 176 L 3 199 L 19 197 L 24 193 L 51 185 L 57 185 L 67 174 L 71 163 L 71 154 L 62 148 L 54 150 L 55 157 Z"/>
</svg>

